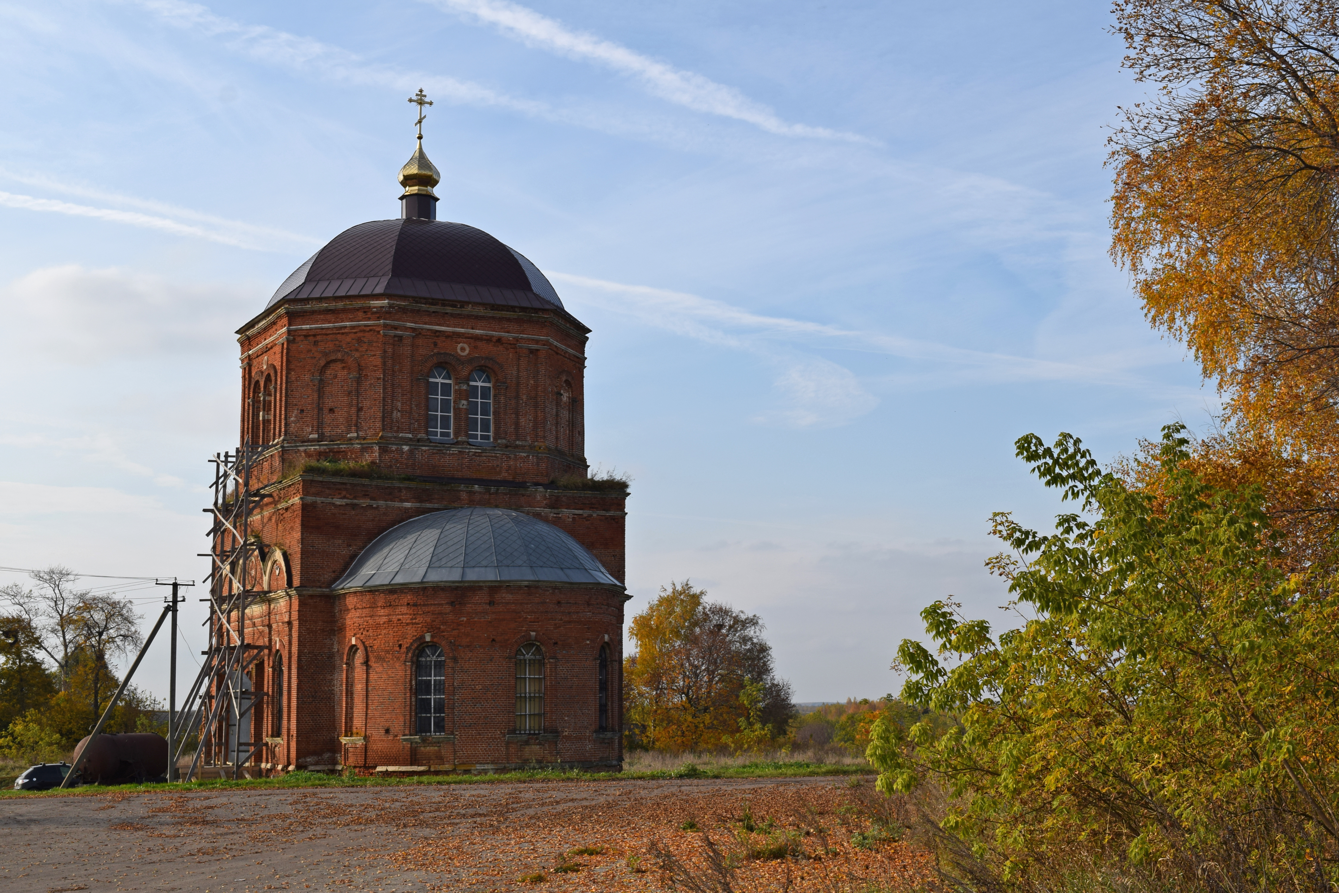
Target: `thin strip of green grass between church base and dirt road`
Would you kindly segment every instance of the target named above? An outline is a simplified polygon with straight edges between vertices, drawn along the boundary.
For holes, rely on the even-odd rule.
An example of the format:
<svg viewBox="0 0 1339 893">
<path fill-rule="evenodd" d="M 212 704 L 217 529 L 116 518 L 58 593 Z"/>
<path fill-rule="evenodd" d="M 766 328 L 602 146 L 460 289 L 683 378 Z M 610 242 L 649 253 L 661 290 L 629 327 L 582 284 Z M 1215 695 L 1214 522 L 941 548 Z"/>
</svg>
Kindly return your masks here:
<svg viewBox="0 0 1339 893">
<path fill-rule="evenodd" d="M 252 779 L 206 779 L 189 785 L 86 785 L 70 790 L 15 791 L 0 790 L 0 799 L 8 797 L 87 797 L 96 794 L 130 794 L 151 791 L 205 791 L 205 790 L 266 790 L 283 787 L 396 787 L 404 785 L 495 785 L 517 782 L 620 782 L 620 781 L 664 781 L 680 778 L 803 778 L 822 775 L 869 775 L 874 770 L 869 764 L 850 766 L 840 763 L 811 763 L 809 760 L 777 762 L 758 760 L 742 766 L 708 766 L 692 770 L 686 763 L 676 770 L 653 773 L 588 773 L 580 768 L 552 770 L 533 768 L 495 775 L 415 775 L 411 778 L 358 778 L 348 775 L 296 771 L 280 778 Z"/>
</svg>

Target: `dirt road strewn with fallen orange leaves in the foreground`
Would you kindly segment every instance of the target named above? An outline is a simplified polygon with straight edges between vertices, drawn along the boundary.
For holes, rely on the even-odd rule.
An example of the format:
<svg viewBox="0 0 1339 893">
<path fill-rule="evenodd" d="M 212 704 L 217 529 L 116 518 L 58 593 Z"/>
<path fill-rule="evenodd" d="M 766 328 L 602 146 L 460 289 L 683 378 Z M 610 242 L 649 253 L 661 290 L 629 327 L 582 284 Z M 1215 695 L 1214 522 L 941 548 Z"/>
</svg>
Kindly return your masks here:
<svg viewBox="0 0 1339 893">
<path fill-rule="evenodd" d="M 833 827 L 825 851 L 836 853 L 850 793 L 846 779 L 797 778 L 13 798 L 0 801 L 0 890 L 653 890 L 653 841 L 690 862 L 703 851 L 703 834 L 680 829 L 688 819 L 724 843 L 744 810 L 777 829 L 809 815 Z M 880 869 L 870 860 L 923 868 L 902 843 L 846 857 L 868 870 Z M 803 889 L 814 869 L 743 870 L 757 886 L 736 889 L 787 872 Z"/>
</svg>

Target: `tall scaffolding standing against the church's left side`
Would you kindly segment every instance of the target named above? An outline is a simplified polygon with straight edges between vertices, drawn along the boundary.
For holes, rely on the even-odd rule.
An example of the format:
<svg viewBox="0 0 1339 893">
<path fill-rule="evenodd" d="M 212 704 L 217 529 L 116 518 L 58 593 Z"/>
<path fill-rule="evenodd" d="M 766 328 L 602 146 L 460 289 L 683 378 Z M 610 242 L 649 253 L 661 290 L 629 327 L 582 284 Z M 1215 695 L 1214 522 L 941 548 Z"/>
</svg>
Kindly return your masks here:
<svg viewBox="0 0 1339 893">
<path fill-rule="evenodd" d="M 214 502 L 206 509 L 213 521 L 208 553 L 209 619 L 205 621 L 209 624 L 209 651 L 182 702 L 186 711 L 198 711 L 200 723 L 200 743 L 190 770 L 182 778 L 186 782 L 204 766 L 218 767 L 222 775 L 238 778 L 242 766 L 262 743 L 244 740 L 260 738 L 253 711 L 264 696 L 252 691 L 246 675 L 266 651 L 246 641 L 246 609 L 260 592 L 260 544 L 252 537 L 250 517 L 264 499 L 252 490 L 253 469 L 261 451 L 260 446 L 241 446 L 234 453 L 216 453 L 210 459 L 214 466 Z M 258 712 L 254 715 L 258 716 Z M 183 731 L 186 728 L 189 726 L 182 727 Z M 175 742 L 173 766 L 181 758 L 186 740 L 187 735 L 182 735 Z"/>
</svg>

